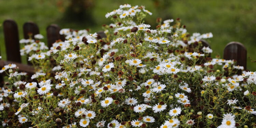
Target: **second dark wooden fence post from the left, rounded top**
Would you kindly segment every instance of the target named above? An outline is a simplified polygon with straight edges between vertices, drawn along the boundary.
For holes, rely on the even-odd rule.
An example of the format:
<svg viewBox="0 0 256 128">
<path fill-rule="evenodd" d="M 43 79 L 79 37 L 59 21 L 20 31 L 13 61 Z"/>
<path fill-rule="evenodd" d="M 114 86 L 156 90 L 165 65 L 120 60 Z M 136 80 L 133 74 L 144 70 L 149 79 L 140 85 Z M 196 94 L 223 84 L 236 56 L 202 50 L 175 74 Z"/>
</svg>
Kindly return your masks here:
<svg viewBox="0 0 256 128">
<path fill-rule="evenodd" d="M 24 39 L 29 39 L 29 36 L 31 36 L 31 38 L 34 39 L 34 35 L 39 34 L 39 28 L 37 24 L 33 22 L 24 23 L 23 34 L 24 34 Z"/>
</svg>

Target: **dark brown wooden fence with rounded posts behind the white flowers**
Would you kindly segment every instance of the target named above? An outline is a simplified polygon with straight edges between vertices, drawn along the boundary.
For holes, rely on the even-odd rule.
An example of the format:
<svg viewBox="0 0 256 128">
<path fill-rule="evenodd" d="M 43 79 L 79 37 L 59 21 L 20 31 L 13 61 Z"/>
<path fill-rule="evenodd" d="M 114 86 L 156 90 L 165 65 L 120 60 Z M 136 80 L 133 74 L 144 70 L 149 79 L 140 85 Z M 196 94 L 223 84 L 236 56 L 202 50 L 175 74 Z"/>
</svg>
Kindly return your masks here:
<svg viewBox="0 0 256 128">
<path fill-rule="evenodd" d="M 56 24 L 49 25 L 46 28 L 47 32 L 47 43 L 48 47 L 51 47 L 56 40 L 64 41 L 65 38 L 63 35 L 59 34 L 60 27 Z M 5 40 L 5 49 L 7 61 L 0 60 L 0 67 L 7 65 L 9 63 L 15 63 L 20 71 L 34 73 L 33 67 L 29 65 L 24 65 L 21 63 L 20 57 L 20 47 L 19 47 L 19 34 L 18 34 L 18 26 L 14 20 L 8 19 L 3 22 L 3 33 Z M 29 36 L 34 38 L 35 34 L 39 34 L 38 26 L 33 22 L 26 22 L 23 25 L 23 35 L 24 39 L 29 39 Z M 99 33 L 102 34 L 102 33 Z M 203 46 L 207 47 L 209 45 L 208 42 L 201 40 Z M 224 59 L 227 60 L 236 60 L 239 66 L 243 66 L 246 69 L 246 56 L 247 51 L 243 44 L 239 42 L 230 42 L 226 45 L 224 49 Z"/>
</svg>

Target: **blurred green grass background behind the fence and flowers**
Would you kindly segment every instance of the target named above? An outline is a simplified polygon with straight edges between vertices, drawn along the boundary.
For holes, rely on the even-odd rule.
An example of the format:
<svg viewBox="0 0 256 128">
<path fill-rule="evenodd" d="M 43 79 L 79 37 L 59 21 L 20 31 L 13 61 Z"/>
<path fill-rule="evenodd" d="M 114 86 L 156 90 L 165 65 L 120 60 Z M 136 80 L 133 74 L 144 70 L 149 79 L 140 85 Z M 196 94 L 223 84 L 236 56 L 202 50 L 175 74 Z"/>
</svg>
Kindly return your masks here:
<svg viewBox="0 0 256 128">
<path fill-rule="evenodd" d="M 0 0 L 0 50 L 6 59 L 2 23 L 14 19 L 19 38 L 23 38 L 22 26 L 32 21 L 46 37 L 46 27 L 58 24 L 61 28 L 101 30 L 110 24 L 107 12 L 120 4 L 145 5 L 153 13 L 145 22 L 155 28 L 156 18 L 181 18 L 189 33 L 212 32 L 208 40 L 213 49 L 212 57 L 223 57 L 227 43 L 238 41 L 247 48 L 247 69 L 256 71 L 256 1 L 255 0 Z M 43 41 L 46 42 L 46 39 Z M 250 58 L 252 59 L 250 59 Z M 26 60 L 23 58 L 23 62 Z"/>
</svg>

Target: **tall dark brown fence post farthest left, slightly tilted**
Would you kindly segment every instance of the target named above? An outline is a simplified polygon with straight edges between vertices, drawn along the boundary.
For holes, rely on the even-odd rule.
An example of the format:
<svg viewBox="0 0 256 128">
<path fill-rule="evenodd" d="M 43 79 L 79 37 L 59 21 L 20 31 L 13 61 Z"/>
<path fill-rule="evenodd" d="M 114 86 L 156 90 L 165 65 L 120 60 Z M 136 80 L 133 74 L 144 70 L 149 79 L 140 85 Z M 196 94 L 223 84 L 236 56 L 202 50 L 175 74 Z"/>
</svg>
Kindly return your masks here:
<svg viewBox="0 0 256 128">
<path fill-rule="evenodd" d="M 3 31 L 7 60 L 21 62 L 17 24 L 12 19 L 4 20 Z"/>
</svg>

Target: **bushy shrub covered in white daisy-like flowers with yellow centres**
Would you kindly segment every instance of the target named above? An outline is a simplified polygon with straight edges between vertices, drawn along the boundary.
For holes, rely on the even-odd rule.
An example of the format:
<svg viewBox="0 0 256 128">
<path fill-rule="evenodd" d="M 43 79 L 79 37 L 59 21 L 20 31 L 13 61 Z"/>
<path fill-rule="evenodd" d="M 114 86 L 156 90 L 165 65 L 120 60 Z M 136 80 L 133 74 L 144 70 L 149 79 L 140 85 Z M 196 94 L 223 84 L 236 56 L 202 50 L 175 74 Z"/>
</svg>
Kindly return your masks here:
<svg viewBox="0 0 256 128">
<path fill-rule="evenodd" d="M 210 58 L 202 39 L 180 19 L 156 29 L 143 23 L 144 6 L 107 13 L 105 37 L 62 29 L 66 41 L 48 50 L 42 35 L 20 40 L 35 67 L 32 76 L 4 66 L 0 88 L 3 127 L 252 127 L 256 72 L 233 60 Z"/>
</svg>

